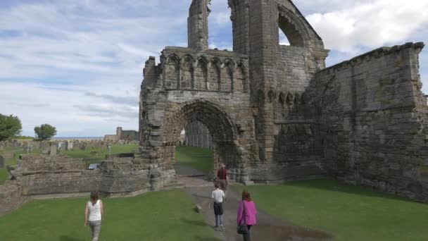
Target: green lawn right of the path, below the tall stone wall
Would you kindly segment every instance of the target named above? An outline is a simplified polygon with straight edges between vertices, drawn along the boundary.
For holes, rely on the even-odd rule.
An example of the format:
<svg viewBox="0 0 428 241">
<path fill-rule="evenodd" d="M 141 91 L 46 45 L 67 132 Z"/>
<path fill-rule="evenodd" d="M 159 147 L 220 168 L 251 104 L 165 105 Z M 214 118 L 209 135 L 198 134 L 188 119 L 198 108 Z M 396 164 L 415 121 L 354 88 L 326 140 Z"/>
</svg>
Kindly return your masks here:
<svg viewBox="0 0 428 241">
<path fill-rule="evenodd" d="M 427 204 L 335 180 L 246 188 L 259 209 L 331 233 L 334 240 L 428 240 Z"/>
</svg>

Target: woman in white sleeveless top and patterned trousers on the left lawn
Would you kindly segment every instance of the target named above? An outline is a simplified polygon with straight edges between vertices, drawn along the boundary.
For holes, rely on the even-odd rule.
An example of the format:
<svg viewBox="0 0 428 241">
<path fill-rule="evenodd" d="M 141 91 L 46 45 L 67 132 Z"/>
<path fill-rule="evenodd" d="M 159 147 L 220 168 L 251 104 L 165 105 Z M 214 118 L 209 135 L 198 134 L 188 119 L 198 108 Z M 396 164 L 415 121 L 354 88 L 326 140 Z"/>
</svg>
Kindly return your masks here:
<svg viewBox="0 0 428 241">
<path fill-rule="evenodd" d="M 87 226 L 89 221 L 89 227 L 91 227 L 92 230 L 92 241 L 98 241 L 103 214 L 103 202 L 99 199 L 98 192 L 91 192 L 91 200 L 87 202 L 84 211 L 84 226 Z"/>
</svg>

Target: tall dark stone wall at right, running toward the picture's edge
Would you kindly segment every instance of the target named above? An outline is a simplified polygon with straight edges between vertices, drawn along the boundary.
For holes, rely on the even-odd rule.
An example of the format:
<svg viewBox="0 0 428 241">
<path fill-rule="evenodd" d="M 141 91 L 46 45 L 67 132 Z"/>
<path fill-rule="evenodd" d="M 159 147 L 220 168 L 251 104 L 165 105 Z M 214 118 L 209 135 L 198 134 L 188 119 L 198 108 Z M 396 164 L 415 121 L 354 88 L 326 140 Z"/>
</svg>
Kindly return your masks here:
<svg viewBox="0 0 428 241">
<path fill-rule="evenodd" d="M 309 92 L 327 167 L 346 181 L 428 201 L 422 43 L 380 48 L 317 73 Z"/>
</svg>

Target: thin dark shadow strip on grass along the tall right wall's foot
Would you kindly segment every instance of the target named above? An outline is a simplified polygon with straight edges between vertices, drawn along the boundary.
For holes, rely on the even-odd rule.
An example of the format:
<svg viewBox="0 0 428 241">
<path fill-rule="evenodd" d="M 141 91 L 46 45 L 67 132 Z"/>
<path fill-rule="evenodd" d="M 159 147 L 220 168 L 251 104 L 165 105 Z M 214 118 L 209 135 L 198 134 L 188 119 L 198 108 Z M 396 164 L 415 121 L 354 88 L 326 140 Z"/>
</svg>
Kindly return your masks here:
<svg viewBox="0 0 428 241">
<path fill-rule="evenodd" d="M 355 194 L 366 197 L 378 197 L 382 199 L 393 199 L 397 201 L 415 202 L 410 199 L 405 199 L 404 197 L 398 197 L 394 196 L 393 194 L 376 190 L 369 186 L 339 183 L 339 181 L 334 179 L 301 180 L 284 183 L 282 185 L 289 187 L 303 187 L 306 189 L 327 190 L 330 192 L 344 192 L 347 194 Z"/>
</svg>

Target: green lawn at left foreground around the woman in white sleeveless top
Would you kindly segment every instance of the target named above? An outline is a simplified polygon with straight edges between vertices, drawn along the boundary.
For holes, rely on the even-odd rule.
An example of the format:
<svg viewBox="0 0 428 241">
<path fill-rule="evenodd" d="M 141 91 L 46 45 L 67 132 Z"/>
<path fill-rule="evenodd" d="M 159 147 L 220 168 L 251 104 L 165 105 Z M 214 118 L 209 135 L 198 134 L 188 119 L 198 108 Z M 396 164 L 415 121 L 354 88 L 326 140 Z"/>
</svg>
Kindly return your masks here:
<svg viewBox="0 0 428 241">
<path fill-rule="evenodd" d="M 0 218 L 0 240 L 90 240 L 84 227 L 87 199 L 37 200 Z M 103 199 L 103 240 L 206 240 L 214 231 L 182 190 Z"/>
</svg>

